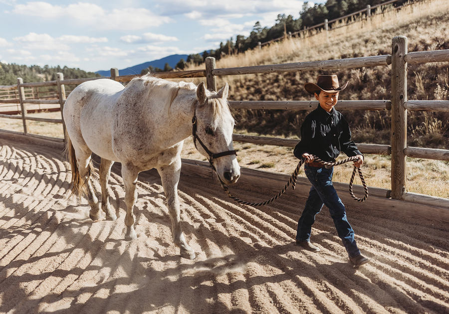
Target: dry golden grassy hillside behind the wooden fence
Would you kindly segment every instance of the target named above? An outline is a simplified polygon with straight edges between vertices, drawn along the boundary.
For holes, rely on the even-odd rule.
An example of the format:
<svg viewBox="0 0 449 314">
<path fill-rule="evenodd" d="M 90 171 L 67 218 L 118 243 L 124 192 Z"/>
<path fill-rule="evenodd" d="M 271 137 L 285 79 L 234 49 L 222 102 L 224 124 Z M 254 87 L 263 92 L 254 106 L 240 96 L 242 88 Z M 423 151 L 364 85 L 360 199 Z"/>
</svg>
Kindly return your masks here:
<svg viewBox="0 0 449 314">
<path fill-rule="evenodd" d="M 306 38 L 293 38 L 261 50 L 251 50 L 217 61 L 218 68 L 259 64 L 342 59 L 391 54 L 391 39 L 408 37 L 409 52 L 449 49 L 449 1 L 429 0 L 403 7 L 399 11 L 375 15 L 370 22 L 359 21 L 326 33 Z M 190 69 L 201 68 L 190 67 Z M 310 100 L 304 91 L 306 82 L 314 82 L 323 71 L 300 71 L 218 78 L 218 85 L 230 84 L 231 100 Z M 390 67 L 343 69 L 337 71 L 340 81 L 349 87 L 340 99 L 391 99 Z M 449 66 L 447 63 L 410 65 L 408 68 L 409 99 L 448 99 Z M 338 109 L 338 108 L 337 108 Z M 270 133 L 295 137 L 304 116 L 303 111 L 235 110 L 238 131 Z M 389 112 L 343 112 L 354 138 L 359 143 L 386 144 L 390 141 Z M 449 147 L 448 113 L 409 113 L 409 145 L 435 148 Z M 269 130 L 269 131 L 268 131 Z"/>
</svg>

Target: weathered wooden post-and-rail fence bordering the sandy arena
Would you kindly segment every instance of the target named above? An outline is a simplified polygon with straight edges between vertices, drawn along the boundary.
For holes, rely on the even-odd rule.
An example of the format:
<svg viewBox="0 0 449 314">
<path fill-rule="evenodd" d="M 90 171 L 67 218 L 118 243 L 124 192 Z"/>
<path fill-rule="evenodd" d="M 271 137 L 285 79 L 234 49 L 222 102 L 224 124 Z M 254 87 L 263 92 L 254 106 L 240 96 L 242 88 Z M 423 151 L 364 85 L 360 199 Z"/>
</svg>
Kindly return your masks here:
<svg viewBox="0 0 449 314">
<path fill-rule="evenodd" d="M 427 158 L 437 160 L 449 160 L 449 150 L 416 148 L 407 146 L 407 110 L 411 111 L 444 111 L 449 112 L 449 101 L 428 101 L 407 99 L 407 65 L 428 63 L 428 62 L 448 62 L 449 50 L 408 52 L 407 37 L 397 36 L 392 39 L 392 54 L 381 56 L 367 56 L 359 58 L 348 58 L 339 60 L 326 61 L 309 61 L 295 62 L 284 64 L 259 65 L 250 67 L 235 68 L 216 68 L 215 58 L 206 59 L 205 70 L 179 71 L 179 72 L 159 72 L 154 76 L 175 79 L 175 78 L 193 78 L 206 77 L 207 87 L 210 90 L 217 90 L 217 76 L 225 75 L 242 75 L 254 73 L 281 73 L 291 71 L 304 70 L 337 70 L 350 69 L 359 67 L 373 66 L 390 66 L 392 75 L 390 100 L 360 100 L 360 101 L 338 101 L 339 110 L 391 110 L 392 129 L 391 129 L 391 145 L 378 144 L 357 144 L 359 150 L 364 154 L 391 155 L 391 190 L 371 188 L 375 194 L 384 198 L 392 198 L 397 200 L 405 200 L 428 206 L 437 206 L 438 208 L 449 208 L 449 199 L 442 197 L 432 197 L 417 193 L 406 192 L 406 157 Z M 119 82 L 128 82 L 136 75 L 119 76 L 116 68 L 111 69 L 111 76 L 107 77 Z M 102 77 L 104 78 L 104 77 Z M 44 136 L 29 134 L 26 130 L 26 120 L 43 121 L 51 123 L 63 123 L 62 119 L 43 119 L 33 118 L 26 115 L 25 104 L 48 103 L 48 100 L 25 99 L 24 88 L 39 86 L 56 86 L 58 91 L 58 99 L 51 100 L 55 104 L 59 104 L 61 108 L 64 106 L 66 99 L 66 85 L 77 85 L 85 81 L 95 80 L 89 79 L 70 79 L 64 80 L 62 73 L 58 73 L 56 81 L 41 83 L 23 83 L 22 79 L 17 79 L 16 88 L 18 90 L 18 101 L 21 107 L 21 117 L 11 117 L 8 115 L 0 115 L 2 118 L 21 119 L 23 121 L 23 132 L 11 132 L 30 137 L 37 137 L 45 140 L 63 142 L 63 139 L 55 139 Z M 2 87 L 0 87 L 1 89 Z M 9 87 L 11 88 L 11 87 Z M 3 102 L 0 100 L 0 103 Z M 229 101 L 232 108 L 244 109 L 283 109 L 283 110 L 311 110 L 318 105 L 317 101 Z M 64 127 L 65 130 L 65 127 Z M 294 147 L 297 140 L 282 138 L 266 138 L 258 136 L 233 135 L 236 142 L 254 143 L 259 145 L 276 145 L 284 147 Z M 392 206 L 384 203 L 382 206 Z M 397 206 L 397 205 L 395 205 Z M 431 211 L 430 211 L 431 212 Z M 445 215 L 448 217 L 449 211 Z"/>
</svg>

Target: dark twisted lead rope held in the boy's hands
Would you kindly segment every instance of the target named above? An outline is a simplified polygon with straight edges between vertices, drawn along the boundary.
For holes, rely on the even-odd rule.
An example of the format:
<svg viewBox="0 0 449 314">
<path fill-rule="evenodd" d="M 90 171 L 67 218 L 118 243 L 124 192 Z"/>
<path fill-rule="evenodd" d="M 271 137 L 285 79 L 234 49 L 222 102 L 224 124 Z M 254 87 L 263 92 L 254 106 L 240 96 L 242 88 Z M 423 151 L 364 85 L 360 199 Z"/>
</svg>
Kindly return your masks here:
<svg viewBox="0 0 449 314">
<path fill-rule="evenodd" d="M 349 162 L 349 161 L 356 161 L 356 160 L 358 160 L 358 157 L 353 156 L 353 157 L 348 157 L 346 159 L 343 159 L 343 160 L 340 160 L 340 161 L 336 161 L 336 162 L 327 162 L 327 161 L 321 160 L 320 158 L 318 158 L 316 156 L 313 156 L 313 157 L 315 158 L 314 161 L 317 161 L 317 162 L 323 164 L 326 167 L 332 167 L 332 166 L 343 164 L 343 163 L 346 163 L 346 162 Z M 247 201 L 241 200 L 241 199 L 233 196 L 229 192 L 229 188 L 227 187 L 227 185 L 225 183 L 223 183 L 221 180 L 220 180 L 220 183 L 222 184 L 222 188 L 225 190 L 225 193 L 227 194 L 227 196 L 229 196 L 229 198 L 233 199 L 237 203 L 244 204 L 244 205 L 250 205 L 250 206 L 264 206 L 264 205 L 267 205 L 269 203 L 272 203 L 273 201 L 278 199 L 282 194 L 284 194 L 285 191 L 287 190 L 288 186 L 290 186 L 290 184 L 291 184 L 291 188 L 293 190 L 295 189 L 295 187 L 296 187 L 296 179 L 297 179 L 298 174 L 299 174 L 299 169 L 301 168 L 301 165 L 304 163 L 304 161 L 305 161 L 304 158 L 301 158 L 299 160 L 298 165 L 296 166 L 295 171 L 292 173 L 292 175 L 290 176 L 290 179 L 285 184 L 285 186 L 282 188 L 282 190 L 280 190 L 279 193 L 277 193 L 276 195 L 274 195 L 273 197 L 271 197 L 270 199 L 268 199 L 268 200 L 266 200 L 264 202 L 254 203 L 254 202 L 247 202 Z M 365 189 L 365 196 L 362 197 L 362 198 L 358 198 L 357 196 L 355 196 L 353 191 L 352 191 L 352 184 L 354 182 L 354 176 L 355 176 L 355 173 L 356 173 L 356 169 L 359 172 L 360 180 L 362 181 L 363 188 Z M 349 180 L 349 194 L 351 194 L 351 197 L 354 198 L 358 202 L 363 202 L 363 201 L 365 201 L 368 198 L 368 187 L 366 186 L 365 179 L 363 178 L 362 170 L 360 170 L 360 167 L 354 166 L 354 170 L 352 171 L 351 179 Z"/>
</svg>

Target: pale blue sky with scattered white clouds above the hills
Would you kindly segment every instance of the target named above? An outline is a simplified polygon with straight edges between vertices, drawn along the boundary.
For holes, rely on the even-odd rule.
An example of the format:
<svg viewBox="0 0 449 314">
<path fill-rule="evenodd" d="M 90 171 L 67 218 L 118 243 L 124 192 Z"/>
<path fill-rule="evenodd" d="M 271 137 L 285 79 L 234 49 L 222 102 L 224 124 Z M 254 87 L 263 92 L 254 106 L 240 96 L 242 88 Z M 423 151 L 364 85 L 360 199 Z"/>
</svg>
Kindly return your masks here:
<svg viewBox="0 0 449 314">
<path fill-rule="evenodd" d="M 216 49 L 230 37 L 248 36 L 256 21 L 270 27 L 277 14 L 298 18 L 302 5 L 299 0 L 0 0 L 0 61 L 93 72 L 123 69 Z"/>
</svg>

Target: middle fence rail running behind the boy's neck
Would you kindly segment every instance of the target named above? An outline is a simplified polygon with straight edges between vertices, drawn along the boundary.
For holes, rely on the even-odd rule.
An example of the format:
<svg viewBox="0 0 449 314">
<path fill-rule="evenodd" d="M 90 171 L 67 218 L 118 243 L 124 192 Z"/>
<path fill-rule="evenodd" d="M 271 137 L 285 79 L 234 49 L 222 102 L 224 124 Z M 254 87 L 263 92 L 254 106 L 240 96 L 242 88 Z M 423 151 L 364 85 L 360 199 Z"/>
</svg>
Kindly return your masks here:
<svg viewBox="0 0 449 314">
<path fill-rule="evenodd" d="M 274 110 L 311 110 L 318 106 L 318 101 L 229 101 L 234 109 L 274 109 Z M 390 110 L 390 100 L 339 100 L 338 110 Z"/>
</svg>

